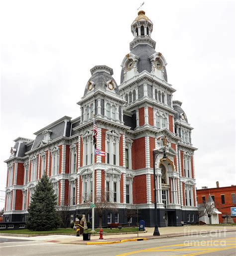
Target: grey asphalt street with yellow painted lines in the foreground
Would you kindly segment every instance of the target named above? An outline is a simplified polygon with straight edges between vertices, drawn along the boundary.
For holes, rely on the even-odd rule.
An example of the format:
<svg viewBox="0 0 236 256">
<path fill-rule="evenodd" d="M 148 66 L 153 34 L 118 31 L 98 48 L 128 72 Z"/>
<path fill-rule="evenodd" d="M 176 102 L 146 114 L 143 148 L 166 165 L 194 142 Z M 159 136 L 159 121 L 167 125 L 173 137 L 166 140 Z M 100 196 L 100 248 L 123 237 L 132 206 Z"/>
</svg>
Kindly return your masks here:
<svg viewBox="0 0 236 256">
<path fill-rule="evenodd" d="M 170 256 L 170 255 L 236 255 L 236 232 L 214 235 L 176 237 L 115 245 L 66 245 L 54 242 L 8 239 L 0 237 L 1 256 Z"/>
</svg>

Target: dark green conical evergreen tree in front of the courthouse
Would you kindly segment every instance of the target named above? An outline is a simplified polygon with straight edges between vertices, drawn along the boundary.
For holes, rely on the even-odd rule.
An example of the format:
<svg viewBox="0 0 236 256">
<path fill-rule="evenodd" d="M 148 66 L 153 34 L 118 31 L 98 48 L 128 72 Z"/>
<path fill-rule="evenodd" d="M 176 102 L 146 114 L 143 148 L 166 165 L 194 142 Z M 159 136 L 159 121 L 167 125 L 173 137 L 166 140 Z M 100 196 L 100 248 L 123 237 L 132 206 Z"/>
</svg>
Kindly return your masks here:
<svg viewBox="0 0 236 256">
<path fill-rule="evenodd" d="M 57 196 L 52 183 L 47 176 L 43 176 L 35 186 L 35 191 L 28 208 L 27 229 L 46 231 L 57 229 L 60 223 L 56 211 Z"/>
</svg>

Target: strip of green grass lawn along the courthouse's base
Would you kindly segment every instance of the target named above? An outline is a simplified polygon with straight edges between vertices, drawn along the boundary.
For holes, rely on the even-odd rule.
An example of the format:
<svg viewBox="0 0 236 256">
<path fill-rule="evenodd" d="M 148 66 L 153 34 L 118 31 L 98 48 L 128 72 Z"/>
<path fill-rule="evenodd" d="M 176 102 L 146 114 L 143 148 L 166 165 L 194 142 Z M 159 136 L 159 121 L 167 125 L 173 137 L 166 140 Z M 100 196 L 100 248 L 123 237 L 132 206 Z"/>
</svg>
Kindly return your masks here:
<svg viewBox="0 0 236 256">
<path fill-rule="evenodd" d="M 99 232 L 100 229 L 95 229 L 95 231 Z M 85 232 L 90 232 L 91 229 L 86 230 Z M 119 233 L 119 232 L 136 232 L 137 228 L 122 228 L 119 229 L 103 229 L 106 233 Z M 24 234 L 24 235 L 40 235 L 40 234 L 76 234 L 76 231 L 68 228 L 68 229 L 57 229 L 57 230 L 49 230 L 49 231 L 30 231 L 27 229 L 22 230 L 0 230 L 0 233 L 8 233 L 8 234 Z"/>
</svg>

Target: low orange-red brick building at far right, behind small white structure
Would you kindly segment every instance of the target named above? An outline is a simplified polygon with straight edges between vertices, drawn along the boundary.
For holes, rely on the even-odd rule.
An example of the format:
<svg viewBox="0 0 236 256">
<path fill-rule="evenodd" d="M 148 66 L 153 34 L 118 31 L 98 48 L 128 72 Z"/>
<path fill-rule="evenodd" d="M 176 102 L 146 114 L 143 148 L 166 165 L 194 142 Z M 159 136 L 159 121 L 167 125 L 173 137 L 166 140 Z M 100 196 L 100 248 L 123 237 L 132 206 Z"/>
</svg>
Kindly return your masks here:
<svg viewBox="0 0 236 256">
<path fill-rule="evenodd" d="M 223 223 L 222 215 L 231 215 L 231 207 L 236 207 L 236 185 L 229 187 L 203 188 L 197 190 L 198 204 L 204 203 L 208 199 L 209 193 L 215 202 L 216 208 L 222 212 L 219 215 L 219 223 Z M 236 220 L 233 218 L 236 222 Z"/>
</svg>

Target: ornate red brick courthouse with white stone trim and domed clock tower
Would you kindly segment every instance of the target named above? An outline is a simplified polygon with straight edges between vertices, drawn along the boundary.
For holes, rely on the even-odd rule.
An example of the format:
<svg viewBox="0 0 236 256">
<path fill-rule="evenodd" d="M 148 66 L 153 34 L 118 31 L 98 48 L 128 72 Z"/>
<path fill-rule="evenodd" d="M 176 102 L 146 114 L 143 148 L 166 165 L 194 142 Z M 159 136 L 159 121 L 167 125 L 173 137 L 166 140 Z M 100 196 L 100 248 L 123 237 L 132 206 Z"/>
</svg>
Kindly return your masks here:
<svg viewBox="0 0 236 256">
<path fill-rule="evenodd" d="M 120 84 L 112 68 L 93 67 L 77 103 L 80 117 L 62 117 L 36 131 L 34 139 L 14 140 L 5 161 L 4 222 L 25 221 L 43 174 L 53 183 L 58 206 L 69 204 L 71 220 L 76 214 L 86 214 L 91 221 L 94 115 L 97 148 L 107 152 L 106 157 L 96 157 L 96 197 L 105 194 L 118 206 L 118 211 L 104 214 L 103 225 L 127 223 L 125 209 L 131 205 L 138 206 L 139 220 L 145 220 L 146 226 L 155 225 L 152 151 L 163 151 L 163 136 L 168 158 L 162 161 L 159 154 L 155 163 L 158 225 L 197 221 L 193 128 L 182 103 L 172 100 L 176 90 L 167 81 L 167 63 L 155 50 L 152 29 L 152 21 L 139 11 L 131 24 L 130 52 L 121 62 Z M 98 219 L 96 214 L 95 226 Z"/>
</svg>

